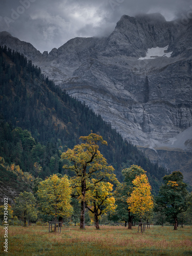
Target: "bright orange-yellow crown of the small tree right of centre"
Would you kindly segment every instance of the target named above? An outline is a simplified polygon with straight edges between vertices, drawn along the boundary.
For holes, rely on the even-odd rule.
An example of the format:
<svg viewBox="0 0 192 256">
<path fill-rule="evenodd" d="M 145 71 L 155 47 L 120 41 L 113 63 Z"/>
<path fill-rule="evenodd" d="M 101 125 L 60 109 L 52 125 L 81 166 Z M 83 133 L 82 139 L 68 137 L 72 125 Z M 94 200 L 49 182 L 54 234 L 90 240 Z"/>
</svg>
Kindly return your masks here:
<svg viewBox="0 0 192 256">
<path fill-rule="evenodd" d="M 142 221 L 142 219 L 151 214 L 154 207 L 152 188 L 146 174 L 136 176 L 133 180 L 133 185 L 133 191 L 127 199 L 127 203 L 130 211 Z"/>
</svg>

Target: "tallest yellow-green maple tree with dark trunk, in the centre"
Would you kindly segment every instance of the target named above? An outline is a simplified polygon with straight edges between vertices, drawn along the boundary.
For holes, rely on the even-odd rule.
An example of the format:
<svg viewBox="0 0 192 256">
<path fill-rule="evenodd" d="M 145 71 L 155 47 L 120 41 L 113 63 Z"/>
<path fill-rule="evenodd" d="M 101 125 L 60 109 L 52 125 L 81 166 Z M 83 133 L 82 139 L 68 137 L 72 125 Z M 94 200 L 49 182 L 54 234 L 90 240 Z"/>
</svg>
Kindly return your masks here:
<svg viewBox="0 0 192 256">
<path fill-rule="evenodd" d="M 63 168 L 73 170 L 75 176 L 72 177 L 73 188 L 80 188 L 81 212 L 80 228 L 85 225 L 86 192 L 92 187 L 87 186 L 87 182 L 95 179 L 95 184 L 105 179 L 117 181 L 114 175 L 113 166 L 109 166 L 106 159 L 99 151 L 100 145 L 107 145 L 102 136 L 91 133 L 88 136 L 79 138 L 85 143 L 74 146 L 71 150 L 62 153 L 61 158 L 69 160 L 69 164 L 63 165 Z M 92 184 L 94 185 L 94 184 Z"/>
</svg>

